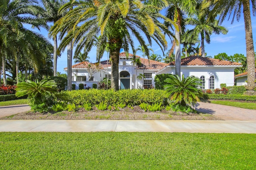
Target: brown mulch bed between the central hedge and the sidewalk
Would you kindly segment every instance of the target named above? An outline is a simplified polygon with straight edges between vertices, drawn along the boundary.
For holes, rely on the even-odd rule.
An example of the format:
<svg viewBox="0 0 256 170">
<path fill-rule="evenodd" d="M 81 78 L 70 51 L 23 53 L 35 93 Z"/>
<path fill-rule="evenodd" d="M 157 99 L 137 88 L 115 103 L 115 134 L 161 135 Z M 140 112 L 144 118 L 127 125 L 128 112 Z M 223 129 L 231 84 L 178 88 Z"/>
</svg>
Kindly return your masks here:
<svg viewBox="0 0 256 170">
<path fill-rule="evenodd" d="M 23 112 L 0 119 L 52 119 L 52 120 L 222 120 L 219 117 L 205 113 L 183 113 L 166 111 L 144 111 L 139 106 L 134 109 L 124 107 L 120 111 L 98 110 L 93 107 L 91 111 L 80 108 L 75 112 Z"/>
</svg>

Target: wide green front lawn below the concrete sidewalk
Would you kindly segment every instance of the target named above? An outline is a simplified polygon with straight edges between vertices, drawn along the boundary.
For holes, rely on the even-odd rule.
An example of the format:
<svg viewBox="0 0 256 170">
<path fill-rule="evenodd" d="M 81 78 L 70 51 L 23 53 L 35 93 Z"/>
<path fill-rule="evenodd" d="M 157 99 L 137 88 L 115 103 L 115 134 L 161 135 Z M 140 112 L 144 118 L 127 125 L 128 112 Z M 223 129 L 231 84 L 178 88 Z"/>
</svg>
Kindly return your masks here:
<svg viewBox="0 0 256 170">
<path fill-rule="evenodd" d="M 256 134 L 0 133 L 1 169 L 240 170 L 256 167 Z"/>
</svg>

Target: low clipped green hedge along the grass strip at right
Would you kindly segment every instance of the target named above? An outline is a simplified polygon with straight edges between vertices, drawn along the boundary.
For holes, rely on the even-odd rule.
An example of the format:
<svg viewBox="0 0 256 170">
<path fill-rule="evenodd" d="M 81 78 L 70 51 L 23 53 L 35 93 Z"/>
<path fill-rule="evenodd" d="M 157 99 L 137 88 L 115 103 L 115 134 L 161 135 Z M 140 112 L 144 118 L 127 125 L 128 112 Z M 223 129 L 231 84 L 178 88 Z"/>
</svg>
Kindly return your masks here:
<svg viewBox="0 0 256 170">
<path fill-rule="evenodd" d="M 256 96 L 244 96 L 244 95 L 224 95 L 224 94 L 204 94 L 203 98 L 216 99 L 216 100 L 245 100 L 245 101 L 256 101 Z"/>
</svg>

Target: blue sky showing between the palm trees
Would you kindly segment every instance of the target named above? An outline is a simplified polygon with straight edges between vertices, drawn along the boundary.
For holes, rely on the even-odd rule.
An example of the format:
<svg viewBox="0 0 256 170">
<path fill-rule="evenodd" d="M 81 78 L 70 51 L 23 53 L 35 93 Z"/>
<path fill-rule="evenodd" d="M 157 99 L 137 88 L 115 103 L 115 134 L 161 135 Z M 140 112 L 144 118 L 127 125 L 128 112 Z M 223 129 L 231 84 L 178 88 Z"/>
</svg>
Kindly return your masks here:
<svg viewBox="0 0 256 170">
<path fill-rule="evenodd" d="M 211 43 L 207 44 L 205 42 L 205 52 L 207 56 L 217 55 L 219 53 L 226 53 L 228 55 L 234 55 L 236 53 L 244 54 L 246 56 L 246 44 L 245 44 L 245 31 L 244 31 L 244 20 L 241 16 L 240 21 L 236 20 L 231 25 L 231 20 L 225 20 L 222 23 L 222 26 L 228 29 L 228 33 L 226 35 L 211 35 Z M 256 51 L 256 17 L 252 16 L 252 35 L 254 39 L 254 51 Z M 39 32 L 39 31 L 37 31 Z M 45 37 L 48 37 L 48 32 L 45 29 L 41 29 L 40 33 Z M 50 40 L 50 39 L 49 39 Z M 50 40 L 53 44 L 53 41 Z M 60 43 L 60 42 L 58 42 Z M 135 47 L 138 47 L 139 43 L 134 39 Z M 172 46 L 171 40 L 168 39 L 168 49 Z M 182 47 L 181 47 L 182 48 Z M 161 55 L 163 57 L 162 51 L 156 43 L 152 43 L 152 49 L 154 53 Z M 130 51 L 132 52 L 132 51 Z M 142 56 L 141 53 L 137 53 L 136 55 Z M 90 57 L 89 61 L 96 62 L 96 47 L 92 48 L 91 52 L 88 55 Z M 107 53 L 104 53 L 102 60 L 107 59 Z M 74 64 L 74 61 L 73 61 Z M 61 57 L 58 58 L 57 61 L 57 71 L 61 73 L 65 73 L 63 68 L 67 66 L 67 53 L 66 50 L 62 53 Z"/>
</svg>

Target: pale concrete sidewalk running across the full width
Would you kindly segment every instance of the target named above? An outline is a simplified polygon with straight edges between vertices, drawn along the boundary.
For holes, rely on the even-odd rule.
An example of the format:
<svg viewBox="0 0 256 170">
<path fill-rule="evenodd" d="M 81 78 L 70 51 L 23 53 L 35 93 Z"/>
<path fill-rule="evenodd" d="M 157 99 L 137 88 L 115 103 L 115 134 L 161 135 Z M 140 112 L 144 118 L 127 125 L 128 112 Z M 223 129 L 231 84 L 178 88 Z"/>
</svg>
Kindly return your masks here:
<svg viewBox="0 0 256 170">
<path fill-rule="evenodd" d="M 0 120 L 0 131 L 256 133 L 256 121 Z"/>
</svg>

